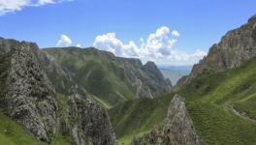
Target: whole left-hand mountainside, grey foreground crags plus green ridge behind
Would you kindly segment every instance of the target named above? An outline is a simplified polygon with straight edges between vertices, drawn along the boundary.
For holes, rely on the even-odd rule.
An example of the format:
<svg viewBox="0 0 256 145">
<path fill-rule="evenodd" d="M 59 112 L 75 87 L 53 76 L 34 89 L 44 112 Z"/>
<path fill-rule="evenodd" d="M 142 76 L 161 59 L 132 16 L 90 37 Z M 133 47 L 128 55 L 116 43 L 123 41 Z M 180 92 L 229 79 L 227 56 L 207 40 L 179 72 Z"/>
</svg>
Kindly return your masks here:
<svg viewBox="0 0 256 145">
<path fill-rule="evenodd" d="M 0 143 L 115 145 L 106 107 L 171 92 L 153 62 L 0 38 Z M 104 107 L 105 106 L 105 107 Z"/>
</svg>

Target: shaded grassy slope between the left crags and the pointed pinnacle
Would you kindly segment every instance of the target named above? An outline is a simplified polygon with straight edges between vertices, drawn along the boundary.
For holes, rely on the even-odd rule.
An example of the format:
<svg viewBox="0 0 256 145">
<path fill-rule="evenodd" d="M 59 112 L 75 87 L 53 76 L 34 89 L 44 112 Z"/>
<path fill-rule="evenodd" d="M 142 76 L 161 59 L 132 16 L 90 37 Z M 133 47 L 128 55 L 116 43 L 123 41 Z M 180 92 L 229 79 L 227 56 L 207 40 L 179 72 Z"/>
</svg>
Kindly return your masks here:
<svg viewBox="0 0 256 145">
<path fill-rule="evenodd" d="M 129 144 L 133 136 L 150 131 L 167 116 L 172 97 L 141 99 L 121 103 L 109 110 L 119 144 Z"/>
</svg>

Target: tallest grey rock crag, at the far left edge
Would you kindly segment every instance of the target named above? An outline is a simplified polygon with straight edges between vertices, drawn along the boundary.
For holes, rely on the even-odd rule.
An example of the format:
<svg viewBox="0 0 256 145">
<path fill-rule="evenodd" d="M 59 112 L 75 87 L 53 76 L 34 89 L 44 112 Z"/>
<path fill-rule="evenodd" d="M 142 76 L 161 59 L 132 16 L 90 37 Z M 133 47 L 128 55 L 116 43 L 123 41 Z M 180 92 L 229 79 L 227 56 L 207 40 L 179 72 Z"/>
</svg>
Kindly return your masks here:
<svg viewBox="0 0 256 145">
<path fill-rule="evenodd" d="M 49 142 L 57 129 L 57 106 L 54 88 L 38 62 L 37 45 L 1 39 L 0 49 L 1 55 L 10 57 L 2 96 L 6 114 Z"/>
</svg>

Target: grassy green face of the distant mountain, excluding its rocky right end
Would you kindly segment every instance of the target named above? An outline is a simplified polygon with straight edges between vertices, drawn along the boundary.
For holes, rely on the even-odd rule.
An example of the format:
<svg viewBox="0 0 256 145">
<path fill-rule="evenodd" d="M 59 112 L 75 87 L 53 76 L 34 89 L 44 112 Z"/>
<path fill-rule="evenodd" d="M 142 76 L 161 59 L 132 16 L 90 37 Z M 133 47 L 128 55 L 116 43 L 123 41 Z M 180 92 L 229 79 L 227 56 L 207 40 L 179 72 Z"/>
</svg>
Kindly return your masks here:
<svg viewBox="0 0 256 145">
<path fill-rule="evenodd" d="M 123 74 L 122 64 L 113 62 L 101 55 L 98 50 L 79 48 L 48 48 L 43 51 L 54 56 L 56 62 L 64 69 L 75 74 L 73 82 L 78 83 L 82 93 L 86 90 L 94 96 L 96 102 L 100 102 L 107 108 L 118 102 L 133 99 L 129 83 Z M 60 80 L 65 80 L 56 75 L 48 75 L 54 86 L 61 86 Z M 58 90 L 60 93 L 64 90 Z"/>
</svg>

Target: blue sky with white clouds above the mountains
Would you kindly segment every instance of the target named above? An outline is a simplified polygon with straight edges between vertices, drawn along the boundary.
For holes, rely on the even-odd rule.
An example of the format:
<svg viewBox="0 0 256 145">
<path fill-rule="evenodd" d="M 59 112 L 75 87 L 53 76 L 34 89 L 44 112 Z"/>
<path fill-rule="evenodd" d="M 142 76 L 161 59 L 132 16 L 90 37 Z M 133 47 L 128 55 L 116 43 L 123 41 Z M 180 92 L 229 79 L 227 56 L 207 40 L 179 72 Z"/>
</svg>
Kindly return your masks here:
<svg viewBox="0 0 256 145">
<path fill-rule="evenodd" d="M 0 37 L 193 65 L 253 14 L 255 0 L 0 0 Z"/>
</svg>

